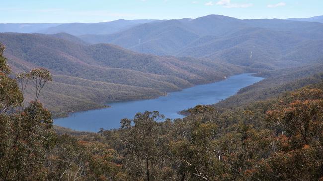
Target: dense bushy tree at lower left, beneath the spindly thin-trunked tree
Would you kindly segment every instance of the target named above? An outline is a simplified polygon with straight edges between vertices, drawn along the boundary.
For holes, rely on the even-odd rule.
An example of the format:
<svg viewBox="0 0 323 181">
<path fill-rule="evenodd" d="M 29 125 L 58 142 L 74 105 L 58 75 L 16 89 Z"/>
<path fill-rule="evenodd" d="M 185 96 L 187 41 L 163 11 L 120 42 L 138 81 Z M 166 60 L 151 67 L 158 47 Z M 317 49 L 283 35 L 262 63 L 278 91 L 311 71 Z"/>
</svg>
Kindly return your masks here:
<svg viewBox="0 0 323 181">
<path fill-rule="evenodd" d="M 1 179 L 42 180 L 42 163 L 55 138 L 49 111 L 34 102 L 20 114 L 1 118 L 1 123 L 1 130 L 7 136 L 2 140 L 6 147 L 1 148 Z"/>
</svg>

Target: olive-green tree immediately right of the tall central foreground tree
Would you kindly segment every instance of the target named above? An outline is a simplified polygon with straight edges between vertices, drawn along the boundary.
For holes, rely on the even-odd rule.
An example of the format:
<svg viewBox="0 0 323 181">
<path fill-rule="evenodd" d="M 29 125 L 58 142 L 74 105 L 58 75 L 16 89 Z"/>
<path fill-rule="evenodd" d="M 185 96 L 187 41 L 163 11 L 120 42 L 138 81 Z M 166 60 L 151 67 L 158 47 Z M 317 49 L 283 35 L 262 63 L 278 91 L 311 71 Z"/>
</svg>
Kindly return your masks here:
<svg viewBox="0 0 323 181">
<path fill-rule="evenodd" d="M 198 105 L 189 109 L 190 116 L 176 120 L 169 149 L 177 161 L 178 180 L 216 180 L 221 171 L 216 156 L 215 140 L 218 126 L 213 107 Z"/>
</svg>

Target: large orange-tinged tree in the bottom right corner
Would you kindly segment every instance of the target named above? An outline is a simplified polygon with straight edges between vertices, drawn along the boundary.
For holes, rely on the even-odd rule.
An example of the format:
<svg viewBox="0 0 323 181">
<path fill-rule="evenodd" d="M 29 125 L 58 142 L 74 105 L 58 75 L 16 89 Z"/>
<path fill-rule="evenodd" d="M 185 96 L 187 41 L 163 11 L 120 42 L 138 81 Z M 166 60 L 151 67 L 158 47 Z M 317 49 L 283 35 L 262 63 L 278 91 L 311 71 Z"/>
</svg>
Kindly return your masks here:
<svg viewBox="0 0 323 181">
<path fill-rule="evenodd" d="M 302 88 L 273 107 L 266 115 L 276 134 L 275 146 L 254 167 L 253 176 L 268 181 L 322 179 L 323 91 Z"/>
</svg>

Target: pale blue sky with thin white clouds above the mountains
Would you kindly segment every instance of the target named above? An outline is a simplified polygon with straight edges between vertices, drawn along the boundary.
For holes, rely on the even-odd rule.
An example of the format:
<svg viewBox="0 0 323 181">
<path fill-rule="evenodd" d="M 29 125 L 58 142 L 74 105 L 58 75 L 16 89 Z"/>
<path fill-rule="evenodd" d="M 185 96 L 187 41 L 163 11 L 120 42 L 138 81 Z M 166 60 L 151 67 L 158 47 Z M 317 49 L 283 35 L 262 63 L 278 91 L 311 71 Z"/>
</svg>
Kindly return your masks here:
<svg viewBox="0 0 323 181">
<path fill-rule="evenodd" d="M 323 15 L 323 0 L 0 0 L 0 23 L 181 19 L 219 14 L 240 19 Z"/>
</svg>

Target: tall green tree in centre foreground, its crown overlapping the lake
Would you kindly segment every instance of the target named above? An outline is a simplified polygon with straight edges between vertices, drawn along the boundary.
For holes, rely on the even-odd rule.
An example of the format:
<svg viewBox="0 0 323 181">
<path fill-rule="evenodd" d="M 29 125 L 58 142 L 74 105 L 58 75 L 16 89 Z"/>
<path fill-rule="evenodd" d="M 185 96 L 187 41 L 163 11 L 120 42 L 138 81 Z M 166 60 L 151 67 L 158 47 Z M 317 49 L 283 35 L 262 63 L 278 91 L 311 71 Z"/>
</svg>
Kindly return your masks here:
<svg viewBox="0 0 323 181">
<path fill-rule="evenodd" d="M 160 161 L 163 137 L 161 126 L 157 122 L 163 119 L 159 112 L 137 113 L 133 120 L 121 120 L 123 144 L 125 150 L 125 168 L 134 178 L 145 178 L 150 181 L 151 176 L 157 176 L 156 166 Z M 132 126 L 131 124 L 134 124 Z M 144 170 L 146 174 L 144 174 Z"/>
</svg>

